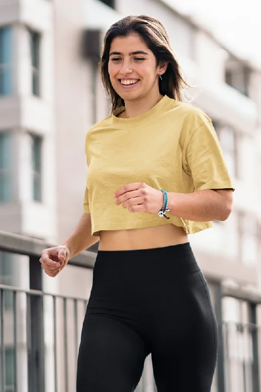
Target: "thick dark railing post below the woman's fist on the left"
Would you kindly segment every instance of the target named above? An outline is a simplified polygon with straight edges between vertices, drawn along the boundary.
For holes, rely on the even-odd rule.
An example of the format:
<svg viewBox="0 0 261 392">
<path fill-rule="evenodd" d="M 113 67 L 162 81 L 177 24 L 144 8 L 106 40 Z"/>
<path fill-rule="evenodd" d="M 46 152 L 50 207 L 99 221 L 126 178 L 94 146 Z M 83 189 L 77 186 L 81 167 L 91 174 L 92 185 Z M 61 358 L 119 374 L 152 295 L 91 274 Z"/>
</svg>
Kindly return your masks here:
<svg viewBox="0 0 261 392">
<path fill-rule="evenodd" d="M 29 257 L 30 289 L 43 291 L 42 268 L 38 257 Z M 44 341 L 44 298 L 30 295 L 28 342 L 28 392 L 45 392 L 45 341 Z"/>
</svg>

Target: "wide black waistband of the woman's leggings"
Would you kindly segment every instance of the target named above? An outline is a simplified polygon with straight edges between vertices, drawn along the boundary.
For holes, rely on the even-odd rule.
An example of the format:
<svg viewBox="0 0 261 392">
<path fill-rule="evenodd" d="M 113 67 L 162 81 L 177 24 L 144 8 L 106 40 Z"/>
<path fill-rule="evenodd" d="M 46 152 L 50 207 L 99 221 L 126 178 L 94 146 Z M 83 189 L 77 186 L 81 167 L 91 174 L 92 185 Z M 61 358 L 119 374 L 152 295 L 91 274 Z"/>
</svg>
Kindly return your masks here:
<svg viewBox="0 0 261 392">
<path fill-rule="evenodd" d="M 190 243 L 135 250 L 98 250 L 94 278 L 173 279 L 200 271 Z"/>
</svg>

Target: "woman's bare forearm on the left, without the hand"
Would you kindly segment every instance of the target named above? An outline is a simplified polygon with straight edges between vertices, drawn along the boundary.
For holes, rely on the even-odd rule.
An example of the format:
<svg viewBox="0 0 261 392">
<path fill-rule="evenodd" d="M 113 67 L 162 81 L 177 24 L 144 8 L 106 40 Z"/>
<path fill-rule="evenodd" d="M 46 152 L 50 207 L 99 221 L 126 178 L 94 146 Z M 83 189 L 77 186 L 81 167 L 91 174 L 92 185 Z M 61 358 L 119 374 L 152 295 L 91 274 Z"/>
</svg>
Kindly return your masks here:
<svg viewBox="0 0 261 392">
<path fill-rule="evenodd" d="M 99 239 L 99 237 L 92 236 L 91 214 L 84 212 L 70 237 L 61 245 L 68 247 L 71 259 L 91 245 L 94 245 Z"/>
</svg>

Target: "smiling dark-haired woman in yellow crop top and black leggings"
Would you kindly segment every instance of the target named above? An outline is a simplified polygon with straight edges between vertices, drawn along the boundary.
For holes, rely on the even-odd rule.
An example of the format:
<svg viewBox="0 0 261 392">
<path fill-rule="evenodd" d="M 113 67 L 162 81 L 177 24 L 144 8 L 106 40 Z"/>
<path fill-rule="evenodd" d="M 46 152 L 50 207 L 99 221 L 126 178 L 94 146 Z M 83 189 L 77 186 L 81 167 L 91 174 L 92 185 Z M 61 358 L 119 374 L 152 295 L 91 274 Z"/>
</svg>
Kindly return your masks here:
<svg viewBox="0 0 261 392">
<path fill-rule="evenodd" d="M 113 113 L 86 136 L 84 213 L 40 262 L 56 276 L 99 240 L 83 323 L 77 392 L 131 392 L 151 353 L 158 392 L 210 392 L 217 323 L 188 234 L 226 220 L 233 185 L 209 117 L 181 101 L 164 26 L 148 16 L 104 38 Z"/>
</svg>

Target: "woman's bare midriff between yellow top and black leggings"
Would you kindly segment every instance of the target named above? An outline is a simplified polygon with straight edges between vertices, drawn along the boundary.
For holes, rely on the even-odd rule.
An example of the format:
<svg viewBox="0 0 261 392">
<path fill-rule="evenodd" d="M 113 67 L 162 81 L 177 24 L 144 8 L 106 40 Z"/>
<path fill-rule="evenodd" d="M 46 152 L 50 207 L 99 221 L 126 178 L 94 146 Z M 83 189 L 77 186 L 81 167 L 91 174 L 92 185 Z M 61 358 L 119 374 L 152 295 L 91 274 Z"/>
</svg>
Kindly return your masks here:
<svg viewBox="0 0 261 392">
<path fill-rule="evenodd" d="M 135 250 L 178 245 L 189 242 L 183 227 L 164 224 L 128 230 L 101 230 L 99 250 Z"/>
</svg>

